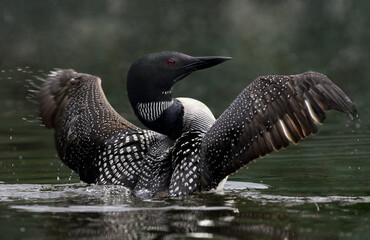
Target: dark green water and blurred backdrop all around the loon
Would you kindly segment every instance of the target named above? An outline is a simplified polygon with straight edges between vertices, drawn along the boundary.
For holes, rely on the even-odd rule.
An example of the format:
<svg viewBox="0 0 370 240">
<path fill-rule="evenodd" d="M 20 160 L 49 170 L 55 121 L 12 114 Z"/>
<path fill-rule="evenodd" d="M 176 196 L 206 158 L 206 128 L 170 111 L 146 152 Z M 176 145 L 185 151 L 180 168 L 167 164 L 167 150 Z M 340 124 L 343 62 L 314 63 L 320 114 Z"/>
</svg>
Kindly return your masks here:
<svg viewBox="0 0 370 240">
<path fill-rule="evenodd" d="M 0 4 L 0 232 L 6 239 L 370 236 L 367 1 Z M 143 200 L 119 186 L 80 183 L 56 156 L 53 132 L 37 122 L 25 97 L 27 79 L 55 67 L 98 75 L 114 108 L 140 125 L 124 76 L 135 58 L 161 50 L 233 57 L 174 89 L 217 116 L 253 78 L 310 69 L 343 88 L 359 117 L 329 112 L 316 136 L 249 164 L 221 193 Z"/>
</svg>

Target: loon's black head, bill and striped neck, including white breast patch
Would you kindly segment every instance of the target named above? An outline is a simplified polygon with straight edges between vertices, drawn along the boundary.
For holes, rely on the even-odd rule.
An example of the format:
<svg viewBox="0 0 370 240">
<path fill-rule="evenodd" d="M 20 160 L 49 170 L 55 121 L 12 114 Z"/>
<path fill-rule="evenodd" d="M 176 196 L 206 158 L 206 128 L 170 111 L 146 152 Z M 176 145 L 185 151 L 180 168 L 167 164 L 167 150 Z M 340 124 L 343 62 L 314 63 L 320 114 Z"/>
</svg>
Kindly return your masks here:
<svg viewBox="0 0 370 240">
<path fill-rule="evenodd" d="M 153 53 L 139 58 L 127 74 L 127 93 L 136 116 L 149 129 L 173 139 L 187 130 L 198 130 L 197 127 L 203 130 L 207 126 L 208 129 L 214 122 L 213 115 L 201 109 L 200 119 L 205 122 L 200 120 L 192 124 L 190 118 L 198 116 L 198 112 L 189 106 L 189 101 L 185 100 L 184 104 L 182 100 L 172 98 L 171 88 L 192 72 L 227 60 L 230 58 L 192 57 L 178 52 Z M 203 117 L 204 113 L 207 116 Z M 212 121 L 209 123 L 205 119 Z"/>
</svg>

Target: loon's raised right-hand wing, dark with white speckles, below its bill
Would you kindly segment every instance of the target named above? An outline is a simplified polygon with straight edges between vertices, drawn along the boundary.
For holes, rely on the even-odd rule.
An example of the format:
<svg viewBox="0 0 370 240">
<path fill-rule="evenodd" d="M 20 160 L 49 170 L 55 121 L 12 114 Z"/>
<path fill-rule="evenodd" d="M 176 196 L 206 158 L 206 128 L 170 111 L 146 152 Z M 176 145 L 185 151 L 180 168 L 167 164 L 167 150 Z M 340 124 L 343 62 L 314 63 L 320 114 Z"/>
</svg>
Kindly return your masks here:
<svg viewBox="0 0 370 240">
<path fill-rule="evenodd" d="M 306 72 L 255 79 L 226 109 L 202 142 L 205 190 L 251 160 L 317 132 L 324 110 L 352 115 L 356 108 L 325 75 Z"/>
</svg>

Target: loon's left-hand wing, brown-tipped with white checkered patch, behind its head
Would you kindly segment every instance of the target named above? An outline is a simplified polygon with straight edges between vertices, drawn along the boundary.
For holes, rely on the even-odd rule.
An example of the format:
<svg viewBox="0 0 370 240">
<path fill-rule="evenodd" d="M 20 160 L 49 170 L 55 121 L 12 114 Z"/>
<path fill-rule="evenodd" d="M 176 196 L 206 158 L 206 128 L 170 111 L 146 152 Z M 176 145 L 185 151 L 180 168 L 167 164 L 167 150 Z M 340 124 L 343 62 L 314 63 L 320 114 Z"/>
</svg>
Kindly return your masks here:
<svg viewBox="0 0 370 240">
<path fill-rule="evenodd" d="M 163 139 L 122 118 L 100 78 L 73 70 L 51 72 L 40 90 L 39 111 L 46 127 L 55 128 L 59 157 L 87 183 L 134 188 L 145 154 Z"/>
</svg>

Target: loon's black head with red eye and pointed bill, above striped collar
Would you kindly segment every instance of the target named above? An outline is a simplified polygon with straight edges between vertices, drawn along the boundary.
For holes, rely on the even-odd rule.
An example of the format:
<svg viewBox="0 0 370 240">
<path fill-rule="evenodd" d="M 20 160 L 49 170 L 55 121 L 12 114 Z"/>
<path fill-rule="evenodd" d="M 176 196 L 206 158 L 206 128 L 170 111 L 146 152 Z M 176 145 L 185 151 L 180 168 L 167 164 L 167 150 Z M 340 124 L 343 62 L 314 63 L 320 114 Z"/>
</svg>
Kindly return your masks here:
<svg viewBox="0 0 370 240">
<path fill-rule="evenodd" d="M 163 100 L 163 93 L 190 73 L 215 66 L 230 57 L 191 57 L 179 52 L 160 52 L 136 60 L 127 75 L 131 104 Z M 158 99 L 160 98 L 160 99 Z"/>
</svg>

